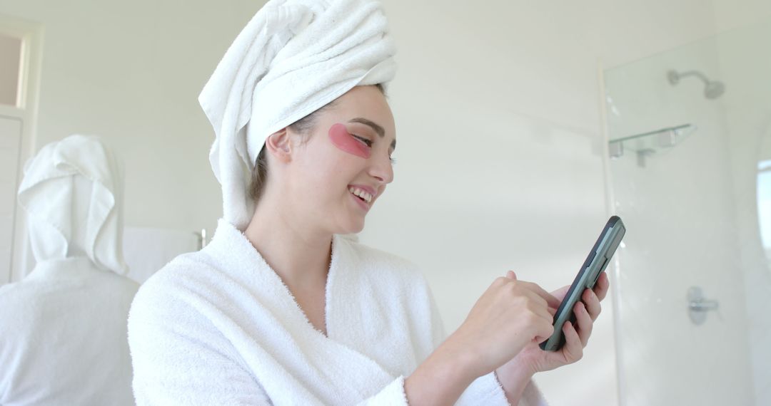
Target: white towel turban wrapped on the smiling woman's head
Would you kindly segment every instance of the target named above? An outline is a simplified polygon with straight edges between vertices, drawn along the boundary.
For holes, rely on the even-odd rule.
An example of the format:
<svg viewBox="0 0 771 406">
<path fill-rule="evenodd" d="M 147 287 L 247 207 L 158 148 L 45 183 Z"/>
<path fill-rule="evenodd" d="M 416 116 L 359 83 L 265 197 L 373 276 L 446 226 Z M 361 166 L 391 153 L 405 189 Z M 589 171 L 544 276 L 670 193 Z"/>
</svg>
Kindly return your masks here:
<svg viewBox="0 0 771 406">
<path fill-rule="evenodd" d="M 243 230 L 265 138 L 356 85 L 389 82 L 396 52 L 374 0 L 271 0 L 227 49 L 198 98 L 214 127 L 224 219 Z"/>
</svg>

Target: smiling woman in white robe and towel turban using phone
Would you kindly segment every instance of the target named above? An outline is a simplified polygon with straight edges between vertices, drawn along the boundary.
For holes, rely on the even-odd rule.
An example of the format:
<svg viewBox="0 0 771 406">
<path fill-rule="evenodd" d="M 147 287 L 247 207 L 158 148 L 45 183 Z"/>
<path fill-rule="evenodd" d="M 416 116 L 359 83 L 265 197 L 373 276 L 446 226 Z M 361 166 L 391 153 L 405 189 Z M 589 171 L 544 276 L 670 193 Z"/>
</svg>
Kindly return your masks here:
<svg viewBox="0 0 771 406">
<path fill-rule="evenodd" d="M 393 180 L 393 52 L 365 0 L 268 2 L 228 49 L 200 97 L 224 218 L 133 303 L 138 404 L 540 403 L 531 376 L 581 357 L 606 278 L 560 352 L 557 298 L 511 272 L 445 339 L 409 262 L 341 237 Z"/>
</svg>

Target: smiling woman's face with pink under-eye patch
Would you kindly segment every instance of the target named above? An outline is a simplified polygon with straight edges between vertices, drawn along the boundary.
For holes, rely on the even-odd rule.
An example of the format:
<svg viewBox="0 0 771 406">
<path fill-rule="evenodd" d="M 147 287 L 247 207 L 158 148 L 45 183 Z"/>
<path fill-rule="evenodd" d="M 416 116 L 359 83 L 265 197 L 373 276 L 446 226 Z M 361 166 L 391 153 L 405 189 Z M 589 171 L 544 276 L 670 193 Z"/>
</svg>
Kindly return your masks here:
<svg viewBox="0 0 771 406">
<path fill-rule="evenodd" d="M 385 96 L 375 86 L 357 86 L 317 115 L 310 135 L 290 136 L 292 180 L 285 186 L 295 215 L 325 232 L 361 231 L 393 180 L 396 128 Z"/>
</svg>

